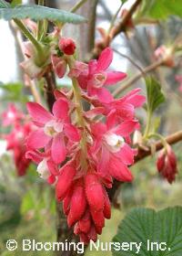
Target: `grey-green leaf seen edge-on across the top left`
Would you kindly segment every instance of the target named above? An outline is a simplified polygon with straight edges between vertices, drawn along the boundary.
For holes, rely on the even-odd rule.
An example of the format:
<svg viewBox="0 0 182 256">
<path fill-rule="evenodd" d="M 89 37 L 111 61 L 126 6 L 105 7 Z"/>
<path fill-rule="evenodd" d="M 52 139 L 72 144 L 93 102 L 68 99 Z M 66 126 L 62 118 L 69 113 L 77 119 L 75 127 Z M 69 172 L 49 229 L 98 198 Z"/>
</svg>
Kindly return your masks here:
<svg viewBox="0 0 182 256">
<path fill-rule="evenodd" d="M 5 20 L 13 18 L 24 19 L 27 17 L 35 20 L 48 19 L 50 21 L 74 24 L 86 22 L 86 18 L 83 16 L 41 5 L 17 5 L 15 8 L 0 8 L 0 18 Z"/>
</svg>

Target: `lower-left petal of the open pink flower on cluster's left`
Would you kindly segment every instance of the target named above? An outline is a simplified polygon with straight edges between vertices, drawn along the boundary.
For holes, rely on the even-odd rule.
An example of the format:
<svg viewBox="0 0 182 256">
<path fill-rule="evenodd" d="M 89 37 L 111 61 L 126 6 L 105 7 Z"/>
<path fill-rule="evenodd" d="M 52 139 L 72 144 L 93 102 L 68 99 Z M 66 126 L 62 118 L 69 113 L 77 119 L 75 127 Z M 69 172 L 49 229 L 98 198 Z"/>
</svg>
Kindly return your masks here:
<svg viewBox="0 0 182 256">
<path fill-rule="evenodd" d="M 44 133 L 44 129 L 38 129 L 30 133 L 27 138 L 27 148 L 37 149 L 45 147 L 45 144 L 48 144 L 50 137 Z"/>
</svg>

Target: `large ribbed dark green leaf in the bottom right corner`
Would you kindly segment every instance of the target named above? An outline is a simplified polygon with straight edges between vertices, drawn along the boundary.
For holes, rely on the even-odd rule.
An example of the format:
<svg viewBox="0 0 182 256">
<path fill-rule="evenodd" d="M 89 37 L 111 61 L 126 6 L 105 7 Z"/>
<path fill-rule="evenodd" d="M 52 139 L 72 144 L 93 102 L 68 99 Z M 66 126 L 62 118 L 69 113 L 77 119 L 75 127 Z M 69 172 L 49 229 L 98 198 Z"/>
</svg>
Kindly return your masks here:
<svg viewBox="0 0 182 256">
<path fill-rule="evenodd" d="M 153 251 L 147 247 L 147 240 L 157 242 Z M 181 256 L 182 255 L 182 207 L 166 208 L 156 212 L 149 208 L 135 208 L 118 227 L 113 242 L 141 242 L 139 252 L 136 246 L 132 250 L 116 251 L 113 246 L 114 256 Z M 159 244 L 161 244 L 160 250 Z M 166 245 L 164 244 L 166 243 Z M 148 243 L 149 244 L 149 243 Z M 158 248 L 157 248 L 158 247 Z M 126 249 L 126 247 L 125 247 Z"/>
</svg>

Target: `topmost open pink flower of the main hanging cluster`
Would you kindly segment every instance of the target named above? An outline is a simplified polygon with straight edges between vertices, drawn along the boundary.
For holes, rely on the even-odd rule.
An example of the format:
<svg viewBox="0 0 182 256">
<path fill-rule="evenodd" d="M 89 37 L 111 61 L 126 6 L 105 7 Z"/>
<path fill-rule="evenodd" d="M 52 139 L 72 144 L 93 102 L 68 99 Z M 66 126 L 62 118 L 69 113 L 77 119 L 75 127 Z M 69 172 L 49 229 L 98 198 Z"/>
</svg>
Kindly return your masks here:
<svg viewBox="0 0 182 256">
<path fill-rule="evenodd" d="M 125 79 L 126 74 L 108 71 L 112 60 L 113 50 L 106 48 L 98 60 L 90 60 L 87 66 L 85 63 L 76 62 L 76 67 L 70 71 L 69 76 L 76 77 L 80 87 L 86 90 L 88 96 L 95 96 L 101 102 L 113 101 L 111 93 L 105 87 Z"/>
</svg>

